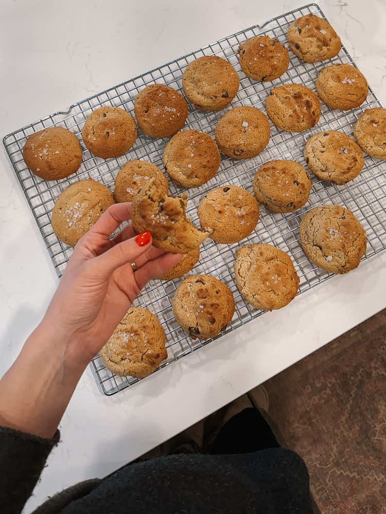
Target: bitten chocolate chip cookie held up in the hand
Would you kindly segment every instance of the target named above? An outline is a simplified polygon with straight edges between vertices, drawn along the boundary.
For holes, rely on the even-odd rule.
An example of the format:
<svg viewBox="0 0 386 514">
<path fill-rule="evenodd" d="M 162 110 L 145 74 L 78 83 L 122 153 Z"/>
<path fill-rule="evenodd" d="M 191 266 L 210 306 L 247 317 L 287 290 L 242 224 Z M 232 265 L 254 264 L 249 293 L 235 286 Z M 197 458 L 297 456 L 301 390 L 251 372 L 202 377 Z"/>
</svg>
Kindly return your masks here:
<svg viewBox="0 0 386 514">
<path fill-rule="evenodd" d="M 186 217 L 186 194 L 166 196 L 155 178 L 145 182 L 131 204 L 131 223 L 136 232 L 149 230 L 153 246 L 171 253 L 188 253 L 212 233 L 199 229 Z"/>
</svg>

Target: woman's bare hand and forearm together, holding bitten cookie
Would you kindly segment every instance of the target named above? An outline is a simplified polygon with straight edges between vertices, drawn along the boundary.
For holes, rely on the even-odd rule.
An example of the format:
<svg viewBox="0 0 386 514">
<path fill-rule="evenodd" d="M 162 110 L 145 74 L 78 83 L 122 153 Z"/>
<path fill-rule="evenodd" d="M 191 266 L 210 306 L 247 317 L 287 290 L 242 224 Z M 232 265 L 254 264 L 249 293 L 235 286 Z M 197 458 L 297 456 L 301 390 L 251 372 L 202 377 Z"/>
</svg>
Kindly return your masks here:
<svg viewBox="0 0 386 514">
<path fill-rule="evenodd" d="M 109 207 L 76 245 L 42 322 L 0 380 L 0 425 L 52 437 L 87 363 L 139 291 L 181 259 L 131 225 L 109 240 L 129 218 L 130 204 Z"/>
</svg>

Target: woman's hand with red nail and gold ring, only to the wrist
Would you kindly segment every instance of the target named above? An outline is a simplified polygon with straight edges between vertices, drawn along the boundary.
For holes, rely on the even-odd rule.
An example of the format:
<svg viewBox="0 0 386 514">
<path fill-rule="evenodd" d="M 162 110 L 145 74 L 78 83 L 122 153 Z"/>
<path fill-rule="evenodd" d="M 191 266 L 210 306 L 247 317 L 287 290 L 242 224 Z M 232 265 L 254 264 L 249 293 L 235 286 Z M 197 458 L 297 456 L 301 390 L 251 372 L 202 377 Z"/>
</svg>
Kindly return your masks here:
<svg viewBox="0 0 386 514">
<path fill-rule="evenodd" d="M 80 239 L 44 317 L 68 336 L 80 361 L 99 352 L 145 284 L 181 259 L 151 246 L 150 232 L 136 235 L 131 224 L 109 240 L 129 218 L 130 204 L 115 204 Z"/>
</svg>

